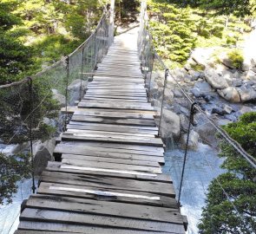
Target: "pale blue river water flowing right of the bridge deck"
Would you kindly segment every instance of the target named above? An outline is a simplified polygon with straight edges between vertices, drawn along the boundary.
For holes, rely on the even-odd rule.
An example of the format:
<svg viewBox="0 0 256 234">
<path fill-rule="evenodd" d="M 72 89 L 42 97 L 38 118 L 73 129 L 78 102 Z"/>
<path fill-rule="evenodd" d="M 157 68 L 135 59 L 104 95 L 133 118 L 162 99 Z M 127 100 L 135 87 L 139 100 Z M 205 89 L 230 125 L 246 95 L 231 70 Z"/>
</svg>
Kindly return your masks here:
<svg viewBox="0 0 256 234">
<path fill-rule="evenodd" d="M 166 164 L 163 172 L 171 175 L 178 198 L 184 151 L 173 149 L 165 153 Z M 198 150 L 188 151 L 183 186 L 181 191 L 181 213 L 187 216 L 189 234 L 198 233 L 202 207 L 205 205 L 207 187 L 220 173 L 223 159 L 210 146 L 200 143 Z"/>
</svg>

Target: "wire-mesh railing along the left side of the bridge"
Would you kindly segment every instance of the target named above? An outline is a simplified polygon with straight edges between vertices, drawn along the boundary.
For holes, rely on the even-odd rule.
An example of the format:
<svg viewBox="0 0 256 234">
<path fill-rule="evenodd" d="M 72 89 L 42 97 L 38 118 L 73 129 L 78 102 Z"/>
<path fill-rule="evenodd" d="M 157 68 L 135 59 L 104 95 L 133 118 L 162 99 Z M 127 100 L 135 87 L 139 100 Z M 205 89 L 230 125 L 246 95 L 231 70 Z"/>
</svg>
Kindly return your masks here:
<svg viewBox="0 0 256 234">
<path fill-rule="evenodd" d="M 52 153 L 52 147 L 49 145 L 54 144 L 53 140 L 50 140 L 47 146 L 36 142 L 56 137 L 65 128 L 69 115 L 68 112 L 62 114 L 60 110 L 62 107 L 67 109 L 68 106 L 74 106 L 76 101 L 82 99 L 90 78 L 84 73 L 94 71 L 97 62 L 101 62 L 102 57 L 107 54 L 113 39 L 113 36 L 109 35 L 109 27 L 113 28 L 113 25 L 109 23 L 108 11 L 104 10 L 91 36 L 70 55 L 62 57 L 60 61 L 36 75 L 0 86 L 1 155 L 16 155 L 20 159 L 20 155 L 30 154 L 32 174 L 40 173 L 43 166 L 46 166 Z M 0 164 L 6 166 L 2 161 Z M 35 181 L 24 182 L 27 187 L 26 192 L 23 192 L 21 186 L 24 183 L 18 183 L 20 185 L 13 205 L 18 203 L 19 206 L 21 197 L 24 199 L 29 196 L 30 187 L 35 192 L 36 185 Z M 6 204 L 6 200 L 4 202 Z M 0 209 L 1 233 L 9 233 L 12 214 L 19 214 L 19 209 L 10 211 L 8 207 L 10 206 L 6 206 L 8 211 L 4 211 L 3 206 Z"/>
</svg>

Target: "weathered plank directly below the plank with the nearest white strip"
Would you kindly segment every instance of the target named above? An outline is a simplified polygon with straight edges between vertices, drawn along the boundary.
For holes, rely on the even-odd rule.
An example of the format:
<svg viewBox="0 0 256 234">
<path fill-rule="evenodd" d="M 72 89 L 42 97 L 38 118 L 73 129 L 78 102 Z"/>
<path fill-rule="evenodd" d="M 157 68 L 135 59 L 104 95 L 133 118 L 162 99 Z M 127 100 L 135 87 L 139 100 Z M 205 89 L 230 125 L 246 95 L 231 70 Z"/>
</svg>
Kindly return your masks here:
<svg viewBox="0 0 256 234">
<path fill-rule="evenodd" d="M 121 204 L 107 201 L 94 201 L 82 198 L 62 198 L 60 196 L 31 195 L 25 207 L 56 211 L 76 211 L 123 218 L 148 219 L 174 224 L 183 224 L 177 209 L 148 205 Z"/>
</svg>

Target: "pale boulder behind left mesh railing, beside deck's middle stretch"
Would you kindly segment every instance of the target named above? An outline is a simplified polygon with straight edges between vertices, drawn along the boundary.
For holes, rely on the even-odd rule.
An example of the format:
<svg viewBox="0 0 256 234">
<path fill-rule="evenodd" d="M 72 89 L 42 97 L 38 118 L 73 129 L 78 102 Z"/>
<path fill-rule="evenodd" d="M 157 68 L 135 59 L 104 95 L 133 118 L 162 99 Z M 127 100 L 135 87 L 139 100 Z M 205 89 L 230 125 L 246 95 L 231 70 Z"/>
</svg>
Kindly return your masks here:
<svg viewBox="0 0 256 234">
<path fill-rule="evenodd" d="M 80 92 L 82 90 L 82 96 L 84 95 L 85 88 L 87 87 L 87 81 L 81 81 L 76 79 L 69 84 L 69 101 L 68 104 L 71 106 L 75 105 L 75 101 L 80 100 Z"/>
</svg>

